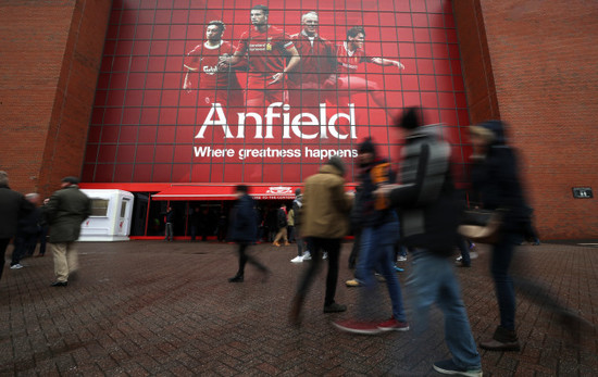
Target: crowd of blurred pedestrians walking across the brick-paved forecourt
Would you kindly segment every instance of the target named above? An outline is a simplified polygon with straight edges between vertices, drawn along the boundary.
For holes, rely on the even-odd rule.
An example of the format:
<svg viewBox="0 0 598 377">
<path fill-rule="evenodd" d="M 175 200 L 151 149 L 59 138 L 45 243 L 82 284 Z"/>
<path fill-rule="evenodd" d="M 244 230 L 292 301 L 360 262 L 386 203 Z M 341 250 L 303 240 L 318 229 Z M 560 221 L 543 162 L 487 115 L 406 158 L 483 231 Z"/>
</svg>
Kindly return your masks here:
<svg viewBox="0 0 598 377">
<path fill-rule="evenodd" d="M 460 266 L 471 265 L 469 250 L 473 243 L 459 236 L 465 202 L 451 175 L 450 146 L 440 129 L 424 126 L 422 110 L 407 109 L 398 122 L 404 131 L 404 146 L 400 169 L 376 151 L 374 140 L 359 144 L 359 187 L 348 191 L 345 187 L 345 162 L 332 156 L 309 177 L 303 190 L 296 191 L 289 209 L 281 205 L 275 211 L 276 231 L 273 244 L 297 243 L 294 263 L 309 262 L 298 282 L 290 303 L 289 323 L 300 326 L 304 302 L 310 287 L 323 263 L 327 260 L 323 313 L 347 311 L 336 302 L 341 240 L 352 233 L 356 248 L 349 266 L 354 267 L 354 287 L 361 287 L 353 319 L 334 322 L 339 330 L 373 335 L 382 331 L 414 330 L 414 341 L 423 339 L 429 309 L 436 304 L 445 317 L 445 341 L 451 359 L 434 363 L 435 370 L 448 375 L 482 376 L 481 356 L 470 327 L 466 307 L 454 274 L 453 252 L 459 248 Z M 471 203 L 488 210 L 501 210 L 502 225 L 498 241 L 491 243 L 490 273 L 496 288 L 500 323 L 493 336 L 478 345 L 488 351 L 519 351 L 516 335 L 515 285 L 533 302 L 548 304 L 561 317 L 574 337 L 581 336 L 585 323 L 564 306 L 541 285 L 525 278 L 519 271 L 515 248 L 530 237 L 531 210 L 519 176 L 516 151 L 507 142 L 506 125 L 489 121 L 471 126 L 473 144 L 471 169 Z M 77 276 L 76 240 L 82 223 L 91 214 L 91 202 L 78 189 L 78 179 L 65 177 L 61 189 L 40 203 L 39 196 L 22 196 L 9 188 L 9 177 L 0 172 L 0 277 L 4 253 L 14 238 L 11 268 L 22 267 L 21 260 L 30 256 L 41 238 L 40 255 L 45 253 L 46 235 L 54 260 L 55 281 L 52 287 L 66 287 Z M 258 211 L 249 187 L 236 187 L 236 201 L 228 216 L 227 239 L 237 243 L 238 269 L 228 279 L 242 282 L 245 267 L 256 267 L 262 281 L 271 271 L 254 255 L 251 246 L 263 235 L 264 216 Z M 172 209 L 165 214 L 165 223 Z M 166 226 L 166 239 L 172 228 Z M 537 236 L 532 238 L 536 243 Z M 395 263 L 406 261 L 411 253 L 411 276 L 406 287 L 411 301 L 412 318 L 408 321 L 402 288 L 397 278 Z M 377 281 L 385 281 L 391 303 L 385 321 L 373 319 L 372 314 L 387 310 L 379 306 Z"/>
</svg>

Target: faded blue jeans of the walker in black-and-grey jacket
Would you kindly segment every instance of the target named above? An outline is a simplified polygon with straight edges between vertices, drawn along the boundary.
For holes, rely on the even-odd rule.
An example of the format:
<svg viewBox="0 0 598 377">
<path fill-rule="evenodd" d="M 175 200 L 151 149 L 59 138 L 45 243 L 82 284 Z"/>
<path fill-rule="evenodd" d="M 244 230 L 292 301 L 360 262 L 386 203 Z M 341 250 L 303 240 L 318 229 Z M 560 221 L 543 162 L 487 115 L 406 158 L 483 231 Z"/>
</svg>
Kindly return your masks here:
<svg viewBox="0 0 598 377">
<path fill-rule="evenodd" d="M 459 367 L 479 368 L 479 354 L 472 336 L 461 289 L 452 269 L 452 261 L 425 250 L 413 253 L 414 263 L 409 285 L 415 330 L 423 331 L 428 323 L 429 306 L 436 303 L 445 317 L 445 341 Z"/>
</svg>

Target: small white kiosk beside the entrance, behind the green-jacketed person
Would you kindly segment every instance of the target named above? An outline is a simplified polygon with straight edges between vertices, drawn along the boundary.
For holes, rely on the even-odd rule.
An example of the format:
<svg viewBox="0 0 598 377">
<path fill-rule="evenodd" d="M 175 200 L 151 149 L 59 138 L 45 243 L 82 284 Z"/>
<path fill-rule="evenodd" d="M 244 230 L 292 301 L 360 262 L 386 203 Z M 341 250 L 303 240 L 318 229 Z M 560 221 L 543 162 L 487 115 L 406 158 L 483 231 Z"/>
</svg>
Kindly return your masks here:
<svg viewBox="0 0 598 377">
<path fill-rule="evenodd" d="M 91 199 L 91 216 L 82 225 L 79 241 L 128 241 L 133 193 L 123 190 L 82 191 Z"/>
</svg>

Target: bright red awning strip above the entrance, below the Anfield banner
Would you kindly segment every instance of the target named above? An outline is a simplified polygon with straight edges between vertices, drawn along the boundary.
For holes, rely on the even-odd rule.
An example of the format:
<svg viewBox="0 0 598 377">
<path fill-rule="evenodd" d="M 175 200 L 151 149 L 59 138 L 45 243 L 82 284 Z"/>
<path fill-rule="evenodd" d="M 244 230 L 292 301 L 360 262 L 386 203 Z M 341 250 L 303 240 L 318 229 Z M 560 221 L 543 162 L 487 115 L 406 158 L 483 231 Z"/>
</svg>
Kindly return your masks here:
<svg viewBox="0 0 598 377">
<path fill-rule="evenodd" d="M 258 200 L 292 200 L 298 186 L 249 186 Z M 235 186 L 172 186 L 151 196 L 153 200 L 235 200 Z"/>
</svg>

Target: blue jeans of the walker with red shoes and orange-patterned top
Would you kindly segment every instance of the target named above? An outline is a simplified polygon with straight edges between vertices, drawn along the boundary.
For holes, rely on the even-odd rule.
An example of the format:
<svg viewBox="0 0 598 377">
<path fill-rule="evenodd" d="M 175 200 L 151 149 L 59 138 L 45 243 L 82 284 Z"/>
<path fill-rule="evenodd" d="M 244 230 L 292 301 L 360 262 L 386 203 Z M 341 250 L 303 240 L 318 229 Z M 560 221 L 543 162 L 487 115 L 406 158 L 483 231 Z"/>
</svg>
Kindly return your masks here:
<svg viewBox="0 0 598 377">
<path fill-rule="evenodd" d="M 395 272 L 395 243 L 399 235 L 399 222 L 394 221 L 375 228 L 363 228 L 361 231 L 361 248 L 357 264 L 356 277 L 362 282 L 360 290 L 358 312 L 365 316 L 364 312 L 371 310 L 371 298 L 375 296 L 376 279 L 374 271 L 381 273 L 386 279 L 388 294 L 393 302 L 393 316 L 395 319 L 406 322 L 402 303 L 401 287 Z"/>
</svg>

